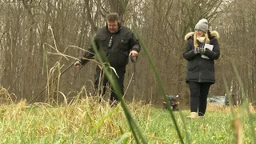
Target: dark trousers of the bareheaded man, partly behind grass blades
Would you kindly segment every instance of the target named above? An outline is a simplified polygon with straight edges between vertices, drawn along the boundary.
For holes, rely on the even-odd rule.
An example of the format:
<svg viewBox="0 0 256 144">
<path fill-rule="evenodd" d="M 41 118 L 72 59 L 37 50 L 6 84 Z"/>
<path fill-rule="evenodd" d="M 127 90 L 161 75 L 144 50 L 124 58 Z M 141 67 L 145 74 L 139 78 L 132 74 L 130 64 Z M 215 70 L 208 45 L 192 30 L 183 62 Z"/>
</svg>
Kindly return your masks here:
<svg viewBox="0 0 256 144">
<path fill-rule="evenodd" d="M 114 68 L 116 70 L 117 75 L 114 73 L 112 69 L 109 69 L 111 78 L 114 78 L 116 82 L 118 82 L 118 88 L 120 90 L 120 93 L 123 95 L 123 82 L 125 79 L 125 74 L 126 74 L 126 67 L 121 67 L 121 68 Z M 95 74 L 95 82 L 94 82 L 94 89 L 97 92 L 98 96 L 104 96 L 106 92 L 106 84 L 109 82 L 109 79 L 106 78 L 106 75 L 103 74 L 103 71 L 97 66 L 96 68 L 96 74 Z M 118 96 L 115 93 L 113 86 L 110 86 L 110 104 L 114 101 L 118 101 Z"/>
</svg>

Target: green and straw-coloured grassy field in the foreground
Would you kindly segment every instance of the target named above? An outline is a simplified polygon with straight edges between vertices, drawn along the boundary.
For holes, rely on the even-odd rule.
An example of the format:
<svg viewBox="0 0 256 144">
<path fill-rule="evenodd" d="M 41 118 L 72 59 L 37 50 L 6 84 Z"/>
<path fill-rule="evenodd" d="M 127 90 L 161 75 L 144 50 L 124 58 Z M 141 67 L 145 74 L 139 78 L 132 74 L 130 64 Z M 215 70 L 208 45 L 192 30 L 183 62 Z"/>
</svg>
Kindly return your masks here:
<svg viewBox="0 0 256 144">
<path fill-rule="evenodd" d="M 140 103 L 128 108 L 146 142 L 182 143 L 168 110 Z M 186 118 L 189 113 L 174 112 L 184 143 L 235 143 L 238 138 L 254 143 L 254 110 L 250 114 L 253 128 L 249 114 L 238 108 L 231 113 L 229 107 L 209 107 L 204 118 L 192 120 Z M 70 106 L 1 105 L 0 119 L 0 143 L 135 143 L 122 107 L 111 108 L 90 98 Z M 242 132 L 238 137 L 234 136 L 237 130 Z"/>
</svg>

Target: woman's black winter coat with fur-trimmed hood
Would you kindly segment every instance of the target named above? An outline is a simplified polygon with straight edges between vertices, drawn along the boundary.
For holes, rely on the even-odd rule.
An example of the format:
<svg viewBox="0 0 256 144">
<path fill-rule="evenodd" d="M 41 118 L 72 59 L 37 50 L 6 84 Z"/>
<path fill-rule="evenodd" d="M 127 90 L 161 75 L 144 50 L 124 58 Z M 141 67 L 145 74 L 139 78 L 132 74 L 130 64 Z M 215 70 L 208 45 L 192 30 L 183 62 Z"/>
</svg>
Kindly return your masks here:
<svg viewBox="0 0 256 144">
<path fill-rule="evenodd" d="M 208 31 L 210 39 L 210 45 L 214 45 L 213 50 L 205 51 L 209 59 L 202 58 L 201 54 L 194 53 L 194 32 L 186 34 L 186 50 L 183 53 L 183 57 L 187 62 L 186 82 L 215 82 L 214 75 L 214 60 L 219 58 L 220 50 L 218 46 L 218 32 Z M 202 43 L 198 43 L 198 46 L 203 46 Z"/>
</svg>

